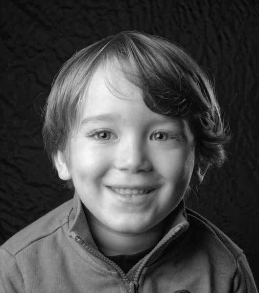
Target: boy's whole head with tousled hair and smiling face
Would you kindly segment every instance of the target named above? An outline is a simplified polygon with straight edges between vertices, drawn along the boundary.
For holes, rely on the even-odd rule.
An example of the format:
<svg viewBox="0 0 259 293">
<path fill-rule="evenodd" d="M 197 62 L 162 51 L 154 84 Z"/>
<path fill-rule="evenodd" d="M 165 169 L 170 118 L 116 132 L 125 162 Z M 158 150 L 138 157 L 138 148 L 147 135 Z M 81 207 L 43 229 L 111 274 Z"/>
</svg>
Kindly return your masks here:
<svg viewBox="0 0 259 293">
<path fill-rule="evenodd" d="M 205 73 L 179 45 L 139 32 L 96 42 L 63 65 L 43 134 L 90 214 L 135 233 L 221 166 L 229 141 Z"/>
</svg>

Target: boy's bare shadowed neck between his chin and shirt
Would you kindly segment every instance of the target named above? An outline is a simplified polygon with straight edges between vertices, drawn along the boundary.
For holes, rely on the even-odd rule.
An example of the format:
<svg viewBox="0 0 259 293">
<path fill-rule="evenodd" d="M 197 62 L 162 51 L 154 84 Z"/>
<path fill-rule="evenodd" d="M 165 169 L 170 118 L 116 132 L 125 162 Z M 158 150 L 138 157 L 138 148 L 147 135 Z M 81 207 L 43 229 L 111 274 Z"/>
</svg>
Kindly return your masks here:
<svg viewBox="0 0 259 293">
<path fill-rule="evenodd" d="M 135 254 L 154 247 L 164 236 L 165 221 L 141 234 L 124 234 L 110 230 L 93 215 L 87 217 L 94 242 L 98 249 L 107 256 Z"/>
</svg>

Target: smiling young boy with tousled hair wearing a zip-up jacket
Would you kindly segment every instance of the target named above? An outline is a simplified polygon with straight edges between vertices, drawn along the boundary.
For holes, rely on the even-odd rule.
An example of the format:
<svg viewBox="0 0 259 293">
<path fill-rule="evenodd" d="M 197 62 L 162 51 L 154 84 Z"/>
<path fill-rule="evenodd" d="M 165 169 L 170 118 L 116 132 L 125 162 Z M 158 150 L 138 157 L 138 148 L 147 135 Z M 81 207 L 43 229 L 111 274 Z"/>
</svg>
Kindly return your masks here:
<svg viewBox="0 0 259 293">
<path fill-rule="evenodd" d="M 180 46 L 121 32 L 79 51 L 43 135 L 74 198 L 1 247 L 0 292 L 257 292 L 242 250 L 185 208 L 230 136 Z"/>
</svg>

